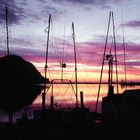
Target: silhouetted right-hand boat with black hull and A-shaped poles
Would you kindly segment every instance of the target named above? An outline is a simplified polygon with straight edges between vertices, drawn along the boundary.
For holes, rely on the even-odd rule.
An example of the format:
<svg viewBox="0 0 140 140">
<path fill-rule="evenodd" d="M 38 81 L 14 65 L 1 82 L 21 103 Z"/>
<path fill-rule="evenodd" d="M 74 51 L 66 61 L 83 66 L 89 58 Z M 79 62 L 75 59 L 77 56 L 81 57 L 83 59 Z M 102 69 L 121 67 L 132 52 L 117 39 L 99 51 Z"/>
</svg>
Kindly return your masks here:
<svg viewBox="0 0 140 140">
<path fill-rule="evenodd" d="M 109 32 L 111 19 L 113 22 L 113 32 L 115 33 L 113 12 L 110 12 L 109 14 L 107 38 L 108 38 L 108 32 Z M 105 60 L 108 61 L 108 94 L 107 96 L 102 98 L 103 121 L 109 122 L 109 123 L 135 124 L 136 125 L 140 123 L 140 89 L 131 89 L 131 90 L 126 89 L 121 94 L 119 94 L 117 90 L 117 94 L 114 94 L 114 86 L 113 86 L 114 63 L 116 66 L 115 74 L 116 74 L 116 79 L 117 79 L 116 81 L 117 88 L 118 88 L 118 76 L 117 76 L 118 72 L 117 72 L 117 65 L 116 65 L 117 55 L 116 55 L 116 45 L 115 45 L 115 34 L 113 34 L 113 36 L 114 36 L 115 55 L 113 55 L 111 51 L 109 54 L 106 54 L 106 47 L 107 47 L 107 39 L 106 39 L 103 63 L 102 63 L 104 65 L 104 61 Z M 102 78 L 102 72 L 103 72 L 103 65 L 102 65 L 102 70 L 101 70 L 101 78 Z M 101 80 L 100 80 L 100 83 L 101 83 Z M 99 86 L 99 90 L 100 90 L 100 86 Z M 98 103 L 98 100 L 97 100 L 97 103 Z M 96 105 L 96 111 L 97 111 L 97 105 Z"/>
</svg>

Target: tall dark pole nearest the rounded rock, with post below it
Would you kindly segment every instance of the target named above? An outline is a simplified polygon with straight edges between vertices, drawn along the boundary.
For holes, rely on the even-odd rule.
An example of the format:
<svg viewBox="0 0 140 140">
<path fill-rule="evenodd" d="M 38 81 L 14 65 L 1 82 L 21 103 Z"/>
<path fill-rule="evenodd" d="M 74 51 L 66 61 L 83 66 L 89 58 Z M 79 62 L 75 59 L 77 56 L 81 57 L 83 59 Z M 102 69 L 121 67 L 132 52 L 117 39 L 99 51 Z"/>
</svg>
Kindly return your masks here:
<svg viewBox="0 0 140 140">
<path fill-rule="evenodd" d="M 42 110 L 45 110 L 45 98 L 46 98 L 46 78 L 47 78 L 47 63 L 48 63 L 48 47 L 49 47 L 49 36 L 50 36 L 50 23 L 51 15 L 49 16 L 48 27 L 47 27 L 47 46 L 46 46 L 46 61 L 45 61 L 45 81 L 44 81 L 44 92 L 42 93 Z"/>
</svg>

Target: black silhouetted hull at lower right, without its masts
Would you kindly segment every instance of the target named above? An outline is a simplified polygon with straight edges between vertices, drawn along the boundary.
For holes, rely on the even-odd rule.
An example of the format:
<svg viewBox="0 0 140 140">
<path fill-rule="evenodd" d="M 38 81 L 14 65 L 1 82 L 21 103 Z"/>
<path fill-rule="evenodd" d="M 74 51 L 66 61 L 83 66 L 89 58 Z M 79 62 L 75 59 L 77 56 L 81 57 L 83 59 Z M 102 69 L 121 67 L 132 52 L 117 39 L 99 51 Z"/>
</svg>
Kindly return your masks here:
<svg viewBox="0 0 140 140">
<path fill-rule="evenodd" d="M 102 114 L 108 122 L 140 123 L 140 89 L 103 97 Z"/>
</svg>

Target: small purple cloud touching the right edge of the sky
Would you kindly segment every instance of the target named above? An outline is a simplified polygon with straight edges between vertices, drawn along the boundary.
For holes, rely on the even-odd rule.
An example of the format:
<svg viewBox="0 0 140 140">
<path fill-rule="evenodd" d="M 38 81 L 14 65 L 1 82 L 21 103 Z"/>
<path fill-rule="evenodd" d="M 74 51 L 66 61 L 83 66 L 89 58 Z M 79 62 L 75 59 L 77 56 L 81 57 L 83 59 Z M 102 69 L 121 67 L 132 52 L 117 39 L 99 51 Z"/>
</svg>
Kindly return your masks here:
<svg viewBox="0 0 140 140">
<path fill-rule="evenodd" d="M 125 23 L 124 26 L 129 28 L 140 28 L 140 20 L 129 21 Z"/>
</svg>

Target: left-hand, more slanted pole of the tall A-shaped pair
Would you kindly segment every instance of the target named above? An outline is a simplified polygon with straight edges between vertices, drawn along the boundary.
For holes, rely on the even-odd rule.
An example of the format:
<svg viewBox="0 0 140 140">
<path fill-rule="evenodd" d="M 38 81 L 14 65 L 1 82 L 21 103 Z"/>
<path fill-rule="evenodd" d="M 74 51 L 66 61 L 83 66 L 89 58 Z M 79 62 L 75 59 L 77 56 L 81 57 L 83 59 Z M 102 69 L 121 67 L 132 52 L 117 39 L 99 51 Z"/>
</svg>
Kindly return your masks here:
<svg viewBox="0 0 140 140">
<path fill-rule="evenodd" d="M 106 33 L 106 41 L 105 41 L 105 48 L 104 48 L 104 53 L 103 53 L 103 61 L 102 61 L 102 68 L 101 68 L 100 81 L 99 81 L 99 87 L 98 87 L 97 101 L 96 101 L 96 105 L 95 105 L 95 113 L 97 113 L 97 109 L 98 109 L 99 94 L 100 94 L 101 82 L 102 82 L 102 76 L 103 76 L 104 60 L 105 60 L 107 43 L 108 43 L 110 20 L 111 20 L 111 11 L 109 12 L 108 28 L 107 28 L 107 33 Z"/>
</svg>

